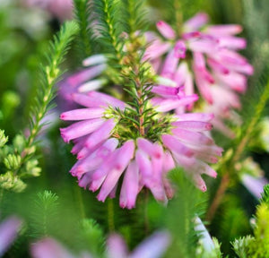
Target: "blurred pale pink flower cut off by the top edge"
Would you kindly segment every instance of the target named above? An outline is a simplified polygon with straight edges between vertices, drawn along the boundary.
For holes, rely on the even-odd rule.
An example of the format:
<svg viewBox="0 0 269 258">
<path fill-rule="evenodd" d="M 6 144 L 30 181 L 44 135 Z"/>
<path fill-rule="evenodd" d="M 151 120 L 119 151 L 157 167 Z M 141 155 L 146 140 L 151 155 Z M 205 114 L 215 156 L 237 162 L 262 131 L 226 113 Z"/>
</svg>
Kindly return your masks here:
<svg viewBox="0 0 269 258">
<path fill-rule="evenodd" d="M 22 0 L 28 6 L 42 8 L 60 21 L 72 19 L 73 1 L 72 0 Z"/>
</svg>

